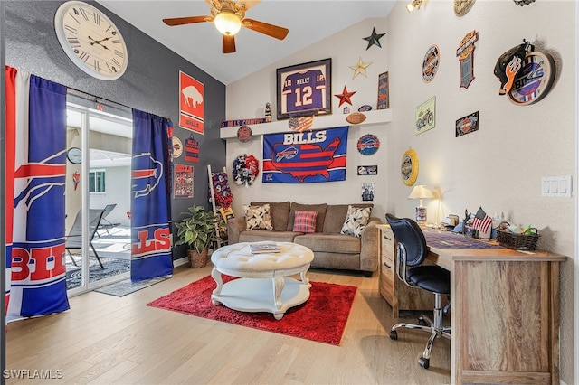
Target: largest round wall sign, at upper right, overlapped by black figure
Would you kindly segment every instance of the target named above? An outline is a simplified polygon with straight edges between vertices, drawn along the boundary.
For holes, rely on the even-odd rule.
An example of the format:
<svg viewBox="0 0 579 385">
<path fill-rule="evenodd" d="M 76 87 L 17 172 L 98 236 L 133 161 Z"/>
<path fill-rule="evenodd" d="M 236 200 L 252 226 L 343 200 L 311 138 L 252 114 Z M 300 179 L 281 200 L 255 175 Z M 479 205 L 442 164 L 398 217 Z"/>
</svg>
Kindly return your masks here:
<svg viewBox="0 0 579 385">
<path fill-rule="evenodd" d="M 555 80 L 555 61 L 546 52 L 528 52 L 508 91 L 508 99 L 519 106 L 545 98 Z"/>
</svg>

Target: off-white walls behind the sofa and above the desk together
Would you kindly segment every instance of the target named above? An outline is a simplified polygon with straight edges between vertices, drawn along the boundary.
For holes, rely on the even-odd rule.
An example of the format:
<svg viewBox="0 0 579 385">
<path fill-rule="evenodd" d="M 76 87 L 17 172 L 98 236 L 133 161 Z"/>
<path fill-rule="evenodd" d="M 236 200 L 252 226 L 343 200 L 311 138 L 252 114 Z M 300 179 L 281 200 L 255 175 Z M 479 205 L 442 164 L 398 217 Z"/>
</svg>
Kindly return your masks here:
<svg viewBox="0 0 579 385">
<path fill-rule="evenodd" d="M 541 177 L 571 175 L 577 191 L 576 132 L 577 83 L 575 2 L 536 1 L 518 6 L 512 0 L 478 1 L 469 14 L 457 17 L 452 1 L 430 0 L 419 11 L 408 14 L 407 2 L 399 2 L 385 19 L 369 19 L 316 43 L 286 60 L 239 80 L 227 88 L 228 119 L 262 117 L 266 101 L 275 108 L 275 70 L 331 57 L 333 60 L 332 93 L 341 93 L 346 85 L 356 90 L 354 108 L 360 104 L 375 105 L 378 73 L 390 75 L 390 107 L 394 119 L 384 127 L 363 127 L 350 134 L 346 182 L 307 185 L 256 183 L 249 188 L 233 186 L 233 209 L 240 214 L 241 205 L 251 200 L 296 202 L 357 202 L 359 183 L 356 165 L 357 137 L 372 133 L 382 146 L 364 164 L 378 164 L 375 214 L 385 212 L 413 216 L 416 202 L 407 199 L 411 187 L 400 178 L 401 157 L 409 147 L 420 159 L 416 183 L 442 192 L 441 202 L 428 203 L 429 221 L 455 213 L 463 217 L 465 209 L 479 206 L 492 214 L 504 211 L 517 224 L 533 224 L 539 229 L 539 247 L 569 256 L 561 273 L 561 380 L 572 384 L 576 355 L 574 352 L 574 273 L 575 198 L 541 197 Z M 387 34 L 380 41 L 382 49 L 365 50 L 363 37 L 375 26 Z M 476 79 L 468 89 L 460 88 L 460 62 L 456 50 L 460 40 L 472 30 L 479 32 L 474 52 Z M 545 99 L 521 107 L 499 96 L 499 81 L 493 74 L 498 57 L 523 38 L 536 49 L 551 52 L 557 61 L 557 79 Z M 421 77 L 424 53 L 432 44 L 441 50 L 441 65 L 431 83 Z M 373 61 L 368 77 L 352 80 L 358 57 Z M 414 134 L 415 108 L 436 96 L 436 127 L 419 136 Z M 359 97 L 359 98 L 356 98 Z M 341 113 L 334 98 L 334 114 Z M 275 110 L 275 109 L 274 109 Z M 479 131 L 455 137 L 456 119 L 479 111 Z M 234 139 L 227 142 L 226 164 L 243 153 L 261 159 L 261 142 L 254 138 L 248 144 Z M 369 181 L 369 180 L 368 180 Z"/>
</svg>

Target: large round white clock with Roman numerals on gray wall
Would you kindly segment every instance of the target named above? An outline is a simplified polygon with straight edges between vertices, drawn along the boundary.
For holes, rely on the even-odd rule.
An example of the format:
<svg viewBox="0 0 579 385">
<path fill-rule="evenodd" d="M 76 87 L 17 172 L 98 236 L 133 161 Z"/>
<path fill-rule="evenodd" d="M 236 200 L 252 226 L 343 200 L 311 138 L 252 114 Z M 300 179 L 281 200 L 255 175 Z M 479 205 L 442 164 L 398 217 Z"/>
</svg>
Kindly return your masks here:
<svg viewBox="0 0 579 385">
<path fill-rule="evenodd" d="M 64 52 L 90 76 L 115 80 L 127 70 L 127 45 L 119 29 L 92 5 L 63 3 L 54 16 L 54 28 Z"/>
</svg>

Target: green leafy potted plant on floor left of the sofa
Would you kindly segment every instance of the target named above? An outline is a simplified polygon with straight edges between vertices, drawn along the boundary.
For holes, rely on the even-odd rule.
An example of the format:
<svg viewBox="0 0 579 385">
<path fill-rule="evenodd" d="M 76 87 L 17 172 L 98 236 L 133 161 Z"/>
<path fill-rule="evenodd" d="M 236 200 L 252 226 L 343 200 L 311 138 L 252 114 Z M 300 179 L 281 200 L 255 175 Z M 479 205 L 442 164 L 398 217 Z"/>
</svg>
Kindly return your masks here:
<svg viewBox="0 0 579 385">
<path fill-rule="evenodd" d="M 217 240 L 215 227 L 217 218 L 213 211 L 205 211 L 203 206 L 189 207 L 189 216 L 175 224 L 177 228 L 176 246 L 187 245 L 187 256 L 192 268 L 203 268 L 207 263 L 207 251 Z"/>
</svg>

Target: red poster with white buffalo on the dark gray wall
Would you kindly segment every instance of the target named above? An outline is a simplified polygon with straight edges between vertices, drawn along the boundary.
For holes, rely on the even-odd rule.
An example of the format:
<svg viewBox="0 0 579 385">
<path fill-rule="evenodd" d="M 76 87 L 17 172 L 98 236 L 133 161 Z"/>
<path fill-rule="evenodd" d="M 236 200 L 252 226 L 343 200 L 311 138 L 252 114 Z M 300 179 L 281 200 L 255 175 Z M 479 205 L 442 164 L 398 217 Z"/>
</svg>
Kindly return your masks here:
<svg viewBox="0 0 579 385">
<path fill-rule="evenodd" d="M 179 127 L 204 134 L 205 86 L 179 71 Z"/>
</svg>

